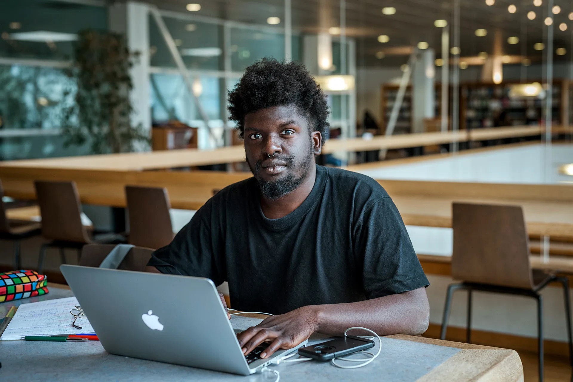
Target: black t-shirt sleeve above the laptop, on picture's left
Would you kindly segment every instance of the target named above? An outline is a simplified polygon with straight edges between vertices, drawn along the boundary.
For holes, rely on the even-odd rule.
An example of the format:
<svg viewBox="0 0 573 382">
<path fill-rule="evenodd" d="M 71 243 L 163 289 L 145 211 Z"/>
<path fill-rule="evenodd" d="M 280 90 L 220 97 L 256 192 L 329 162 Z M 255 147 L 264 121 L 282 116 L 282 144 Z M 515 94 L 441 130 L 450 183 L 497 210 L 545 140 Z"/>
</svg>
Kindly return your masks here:
<svg viewBox="0 0 573 382">
<path fill-rule="evenodd" d="M 210 278 L 215 285 L 225 281 L 225 263 L 213 237 L 217 230 L 211 230 L 208 204 L 195 212 L 169 245 L 156 250 L 147 265 L 161 273 Z"/>
</svg>

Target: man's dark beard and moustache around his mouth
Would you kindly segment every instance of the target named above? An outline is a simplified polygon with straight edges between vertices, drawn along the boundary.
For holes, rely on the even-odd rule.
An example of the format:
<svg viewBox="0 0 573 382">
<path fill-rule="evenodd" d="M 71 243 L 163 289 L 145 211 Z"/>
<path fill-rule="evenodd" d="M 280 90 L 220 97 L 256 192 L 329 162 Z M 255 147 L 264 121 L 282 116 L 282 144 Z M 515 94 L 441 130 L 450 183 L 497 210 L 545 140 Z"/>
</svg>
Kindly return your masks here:
<svg viewBox="0 0 573 382">
<path fill-rule="evenodd" d="M 300 160 L 299 163 L 295 163 L 294 156 L 279 156 L 276 159 L 280 159 L 286 163 L 288 168 L 288 174 L 278 180 L 262 180 L 260 176 L 261 164 L 265 159 L 257 160 L 254 168 L 249 165 L 250 171 L 253 173 L 254 178 L 257 180 L 258 186 L 261 188 L 261 194 L 266 199 L 276 200 L 282 198 L 282 196 L 288 195 L 295 191 L 297 188 L 303 184 L 304 179 L 307 177 L 308 172 L 311 170 L 313 164 L 314 152 L 311 149 L 308 154 Z M 296 173 L 300 172 L 300 176 L 296 176 Z"/>
</svg>

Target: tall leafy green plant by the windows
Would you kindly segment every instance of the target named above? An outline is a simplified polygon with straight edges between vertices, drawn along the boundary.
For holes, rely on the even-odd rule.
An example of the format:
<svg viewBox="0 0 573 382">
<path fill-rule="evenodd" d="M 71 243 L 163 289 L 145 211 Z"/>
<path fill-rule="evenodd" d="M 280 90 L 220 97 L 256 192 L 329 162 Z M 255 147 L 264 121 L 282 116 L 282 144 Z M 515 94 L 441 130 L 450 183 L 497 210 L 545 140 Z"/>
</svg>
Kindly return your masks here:
<svg viewBox="0 0 573 382">
<path fill-rule="evenodd" d="M 123 34 L 83 30 L 74 48 L 76 80 L 74 104 L 64 110 L 62 133 L 65 145 L 88 142 L 93 153 L 134 151 L 149 144 L 149 133 L 132 125 L 134 109 L 129 99 L 133 88 L 129 69 L 138 54 L 129 52 Z"/>
</svg>

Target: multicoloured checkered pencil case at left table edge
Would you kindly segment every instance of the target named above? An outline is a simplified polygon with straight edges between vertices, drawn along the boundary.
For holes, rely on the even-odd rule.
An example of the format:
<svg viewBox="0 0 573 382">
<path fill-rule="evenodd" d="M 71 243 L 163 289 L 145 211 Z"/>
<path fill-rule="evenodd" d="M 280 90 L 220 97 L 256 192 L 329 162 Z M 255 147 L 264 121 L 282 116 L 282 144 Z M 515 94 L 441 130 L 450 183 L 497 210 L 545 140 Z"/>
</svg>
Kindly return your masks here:
<svg viewBox="0 0 573 382">
<path fill-rule="evenodd" d="M 0 302 L 41 296 L 48 293 L 45 274 L 33 270 L 14 270 L 0 273 Z"/>
</svg>

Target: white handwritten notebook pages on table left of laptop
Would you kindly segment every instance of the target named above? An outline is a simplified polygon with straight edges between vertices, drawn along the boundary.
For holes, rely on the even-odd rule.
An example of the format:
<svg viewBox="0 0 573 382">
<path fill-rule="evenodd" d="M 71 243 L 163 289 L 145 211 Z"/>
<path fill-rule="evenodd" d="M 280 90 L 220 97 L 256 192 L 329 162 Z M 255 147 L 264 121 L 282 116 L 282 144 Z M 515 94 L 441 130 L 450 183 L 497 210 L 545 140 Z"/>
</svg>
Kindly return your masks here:
<svg viewBox="0 0 573 382">
<path fill-rule="evenodd" d="M 72 326 L 74 317 L 70 310 L 74 309 L 74 305 L 80 305 L 76 297 L 22 304 L 18 306 L 0 340 L 21 340 L 24 336 L 93 333 L 87 318 L 79 318 L 76 321 L 76 325 L 82 329 Z"/>
</svg>

